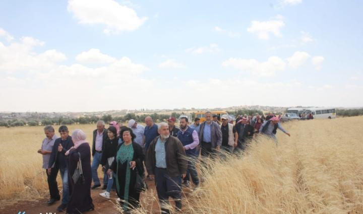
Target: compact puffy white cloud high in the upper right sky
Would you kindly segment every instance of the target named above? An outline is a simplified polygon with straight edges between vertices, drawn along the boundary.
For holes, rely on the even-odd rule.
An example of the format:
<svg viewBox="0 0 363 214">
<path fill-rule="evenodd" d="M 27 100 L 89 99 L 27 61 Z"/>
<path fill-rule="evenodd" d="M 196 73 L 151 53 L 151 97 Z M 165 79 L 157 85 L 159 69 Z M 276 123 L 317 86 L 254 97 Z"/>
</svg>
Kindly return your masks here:
<svg viewBox="0 0 363 214">
<path fill-rule="evenodd" d="M 247 31 L 257 34 L 259 39 L 267 40 L 270 38 L 270 34 L 281 37 L 280 29 L 284 26 L 285 24 L 282 20 L 252 21 Z"/>
</svg>

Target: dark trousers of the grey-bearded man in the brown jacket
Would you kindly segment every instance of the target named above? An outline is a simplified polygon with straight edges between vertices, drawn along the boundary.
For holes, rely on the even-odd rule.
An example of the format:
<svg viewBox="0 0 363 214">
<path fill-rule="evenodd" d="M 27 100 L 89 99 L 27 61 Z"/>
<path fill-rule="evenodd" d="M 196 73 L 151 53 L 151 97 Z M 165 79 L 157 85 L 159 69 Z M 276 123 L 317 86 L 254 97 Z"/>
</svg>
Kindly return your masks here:
<svg viewBox="0 0 363 214">
<path fill-rule="evenodd" d="M 181 175 L 170 177 L 166 169 L 162 168 L 155 168 L 154 174 L 161 210 L 170 213 L 169 209 L 163 205 L 168 203 L 169 196 L 175 200 L 176 209 L 181 209 Z"/>
</svg>

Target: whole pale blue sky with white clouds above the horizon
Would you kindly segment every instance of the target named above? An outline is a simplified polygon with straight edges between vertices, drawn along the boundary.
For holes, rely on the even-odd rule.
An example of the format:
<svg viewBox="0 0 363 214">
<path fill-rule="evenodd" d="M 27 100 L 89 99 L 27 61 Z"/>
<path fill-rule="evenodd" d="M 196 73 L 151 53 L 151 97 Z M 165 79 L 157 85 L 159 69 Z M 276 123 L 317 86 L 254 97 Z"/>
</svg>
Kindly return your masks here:
<svg viewBox="0 0 363 214">
<path fill-rule="evenodd" d="M 0 111 L 361 107 L 362 1 L 2 1 Z"/>
</svg>

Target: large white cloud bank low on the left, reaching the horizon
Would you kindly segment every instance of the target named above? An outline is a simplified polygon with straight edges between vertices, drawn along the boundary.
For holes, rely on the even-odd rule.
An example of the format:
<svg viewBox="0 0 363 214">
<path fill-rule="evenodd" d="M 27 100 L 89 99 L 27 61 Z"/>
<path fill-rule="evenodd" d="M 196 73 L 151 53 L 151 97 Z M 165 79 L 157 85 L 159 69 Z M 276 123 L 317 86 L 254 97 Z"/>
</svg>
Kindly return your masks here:
<svg viewBox="0 0 363 214">
<path fill-rule="evenodd" d="M 141 74 L 149 70 L 128 57 L 107 65 L 89 67 L 67 64 L 66 55 L 50 49 L 37 52 L 37 39 L 22 37 L 7 45 L 0 43 L 0 100 L 5 111 L 94 111 L 133 107 L 135 97 L 143 97 L 153 87 L 153 81 Z M 140 87 L 139 87 L 140 86 Z M 118 93 L 123 99 L 117 99 Z M 143 98 L 151 103 L 153 96 Z M 68 102 L 59 102 L 59 94 Z M 97 102 L 93 102 L 97 99 Z M 112 105 L 105 105 L 112 100 Z M 24 105 L 26 103 L 26 105 Z M 46 103 L 46 105 L 44 105 Z M 69 103 L 72 103 L 70 106 Z M 143 105 L 139 102 L 138 105 Z"/>
</svg>

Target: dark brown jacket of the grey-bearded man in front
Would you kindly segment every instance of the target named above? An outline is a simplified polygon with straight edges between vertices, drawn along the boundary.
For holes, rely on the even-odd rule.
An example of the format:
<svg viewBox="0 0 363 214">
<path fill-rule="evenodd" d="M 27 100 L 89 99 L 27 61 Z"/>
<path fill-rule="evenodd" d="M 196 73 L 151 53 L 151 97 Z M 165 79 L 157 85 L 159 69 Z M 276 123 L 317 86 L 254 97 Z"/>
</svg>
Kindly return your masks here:
<svg viewBox="0 0 363 214">
<path fill-rule="evenodd" d="M 154 169 L 156 167 L 155 158 L 155 146 L 159 137 L 156 137 L 149 146 L 146 153 L 146 170 L 149 175 L 154 175 Z M 165 142 L 165 159 L 166 159 L 166 171 L 170 177 L 180 176 L 187 173 L 188 160 L 186 159 L 186 153 L 184 151 L 183 144 L 176 137 L 169 136 Z"/>
</svg>

